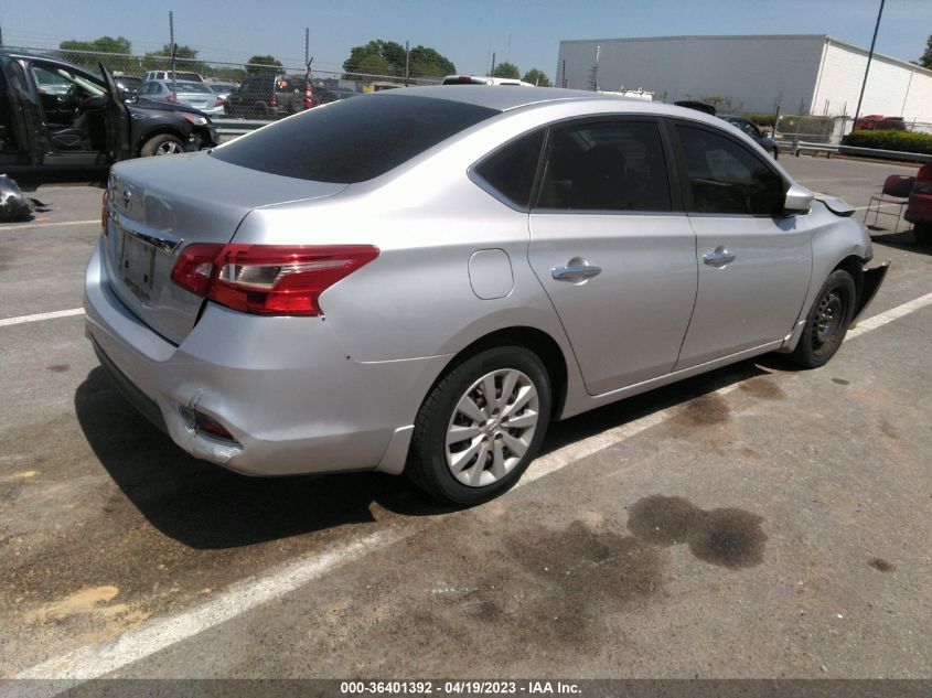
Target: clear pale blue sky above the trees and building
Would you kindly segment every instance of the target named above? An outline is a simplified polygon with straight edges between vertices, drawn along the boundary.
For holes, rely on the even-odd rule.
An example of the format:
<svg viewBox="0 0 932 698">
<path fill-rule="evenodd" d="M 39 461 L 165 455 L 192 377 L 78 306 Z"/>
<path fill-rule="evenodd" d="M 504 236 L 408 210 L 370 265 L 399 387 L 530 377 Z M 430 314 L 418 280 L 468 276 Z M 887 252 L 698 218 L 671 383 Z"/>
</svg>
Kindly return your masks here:
<svg viewBox="0 0 932 698">
<path fill-rule="evenodd" d="M 869 46 L 880 0 L 2 0 L 6 45 L 55 47 L 66 39 L 125 36 L 133 53 L 175 41 L 199 57 L 242 62 L 271 54 L 300 66 L 304 28 L 318 69 L 340 69 L 373 39 L 422 44 L 459 73 L 499 63 L 555 77 L 560 40 L 681 34 L 829 34 Z M 932 34 L 932 0 L 887 0 L 877 51 L 917 60 Z M 779 66 L 775 66 L 779 68 Z"/>
</svg>

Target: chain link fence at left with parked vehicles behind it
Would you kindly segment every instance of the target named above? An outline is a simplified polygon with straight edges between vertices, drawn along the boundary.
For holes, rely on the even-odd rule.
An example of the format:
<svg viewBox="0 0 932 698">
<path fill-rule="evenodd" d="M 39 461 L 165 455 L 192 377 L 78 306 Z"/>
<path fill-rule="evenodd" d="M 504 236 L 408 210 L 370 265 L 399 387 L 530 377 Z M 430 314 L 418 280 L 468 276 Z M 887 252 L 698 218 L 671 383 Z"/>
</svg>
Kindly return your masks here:
<svg viewBox="0 0 932 698">
<path fill-rule="evenodd" d="M 216 119 L 275 120 L 309 106 L 416 85 L 438 85 L 442 76 L 408 77 L 311 69 L 301 64 L 246 64 L 147 53 L 131 55 L 66 49 L 3 46 L 11 52 L 66 61 L 92 73 L 103 63 L 127 98 L 185 104 Z M 173 68 L 174 64 L 174 69 Z M 43 72 L 40 89 L 52 94 L 67 80 Z M 310 87 L 310 90 L 308 89 Z"/>
</svg>

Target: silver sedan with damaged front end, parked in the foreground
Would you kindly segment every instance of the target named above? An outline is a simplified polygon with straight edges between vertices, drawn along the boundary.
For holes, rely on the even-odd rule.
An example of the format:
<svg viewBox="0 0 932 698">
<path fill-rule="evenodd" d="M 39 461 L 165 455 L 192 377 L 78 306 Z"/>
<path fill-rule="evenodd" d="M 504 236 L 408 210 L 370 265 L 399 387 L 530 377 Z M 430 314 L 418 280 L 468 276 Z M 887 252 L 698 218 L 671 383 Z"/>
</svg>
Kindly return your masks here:
<svg viewBox="0 0 932 698">
<path fill-rule="evenodd" d="M 765 352 L 825 364 L 886 272 L 850 214 L 697 111 L 383 92 L 117 164 L 87 333 L 195 457 L 474 504 L 551 420 Z"/>
</svg>

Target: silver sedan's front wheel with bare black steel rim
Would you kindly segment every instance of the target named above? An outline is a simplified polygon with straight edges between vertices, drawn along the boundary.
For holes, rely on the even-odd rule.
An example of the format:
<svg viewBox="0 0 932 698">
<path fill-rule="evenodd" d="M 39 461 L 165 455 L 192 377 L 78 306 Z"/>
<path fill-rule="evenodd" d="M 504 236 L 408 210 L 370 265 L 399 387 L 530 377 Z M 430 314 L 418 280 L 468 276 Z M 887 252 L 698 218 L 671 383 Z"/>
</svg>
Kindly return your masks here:
<svg viewBox="0 0 932 698">
<path fill-rule="evenodd" d="M 828 363 L 845 340 L 857 302 L 855 280 L 844 269 L 828 275 L 818 289 L 806 316 L 793 361 L 803 368 L 818 368 Z"/>
</svg>

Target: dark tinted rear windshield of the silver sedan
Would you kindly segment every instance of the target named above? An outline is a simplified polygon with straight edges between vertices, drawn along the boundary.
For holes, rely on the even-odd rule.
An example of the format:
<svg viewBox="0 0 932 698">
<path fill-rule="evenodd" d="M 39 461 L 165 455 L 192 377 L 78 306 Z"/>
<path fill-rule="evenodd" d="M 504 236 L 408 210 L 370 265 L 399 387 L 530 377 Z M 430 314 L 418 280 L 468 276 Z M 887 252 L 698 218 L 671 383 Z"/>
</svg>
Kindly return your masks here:
<svg viewBox="0 0 932 698">
<path fill-rule="evenodd" d="M 364 96 L 309 109 L 212 155 L 269 174 L 352 184 L 384 174 L 496 114 L 432 97 Z"/>
</svg>

